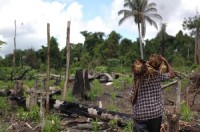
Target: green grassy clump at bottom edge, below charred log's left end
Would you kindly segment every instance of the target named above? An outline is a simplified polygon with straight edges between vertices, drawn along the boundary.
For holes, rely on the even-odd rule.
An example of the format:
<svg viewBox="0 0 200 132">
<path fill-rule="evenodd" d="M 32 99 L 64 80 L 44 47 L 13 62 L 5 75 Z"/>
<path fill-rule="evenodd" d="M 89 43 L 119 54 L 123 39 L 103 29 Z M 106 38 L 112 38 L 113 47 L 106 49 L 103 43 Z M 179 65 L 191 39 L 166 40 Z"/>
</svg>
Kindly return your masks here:
<svg viewBox="0 0 200 132">
<path fill-rule="evenodd" d="M 61 129 L 60 118 L 57 115 L 47 115 L 43 132 L 58 132 Z"/>
</svg>

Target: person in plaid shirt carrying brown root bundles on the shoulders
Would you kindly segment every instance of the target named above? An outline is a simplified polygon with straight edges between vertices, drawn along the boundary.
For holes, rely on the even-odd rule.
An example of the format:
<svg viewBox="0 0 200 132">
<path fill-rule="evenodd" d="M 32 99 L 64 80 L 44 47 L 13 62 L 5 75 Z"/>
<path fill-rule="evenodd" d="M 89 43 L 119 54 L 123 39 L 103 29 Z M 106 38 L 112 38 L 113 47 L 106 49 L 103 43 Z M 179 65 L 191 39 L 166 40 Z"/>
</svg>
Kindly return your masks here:
<svg viewBox="0 0 200 132">
<path fill-rule="evenodd" d="M 164 65 L 163 65 L 164 64 Z M 162 65 L 166 70 L 162 72 Z M 135 60 L 131 103 L 133 106 L 134 132 L 160 132 L 164 103 L 161 82 L 175 77 L 168 61 L 153 54 L 149 61 Z"/>
</svg>

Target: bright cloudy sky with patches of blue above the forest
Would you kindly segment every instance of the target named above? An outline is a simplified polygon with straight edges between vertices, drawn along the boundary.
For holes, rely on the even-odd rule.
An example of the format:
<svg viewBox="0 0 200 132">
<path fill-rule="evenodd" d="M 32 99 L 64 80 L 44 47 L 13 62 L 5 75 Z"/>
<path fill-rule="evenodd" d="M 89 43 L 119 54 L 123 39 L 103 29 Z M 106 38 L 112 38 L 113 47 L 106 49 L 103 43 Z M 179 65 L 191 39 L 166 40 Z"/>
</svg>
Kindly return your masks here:
<svg viewBox="0 0 200 132">
<path fill-rule="evenodd" d="M 81 31 L 104 32 L 115 30 L 124 38 L 135 41 L 137 26 L 133 20 L 118 25 L 118 11 L 124 0 L 0 0 L 0 40 L 7 42 L 0 55 L 12 53 L 14 49 L 14 21 L 16 20 L 17 49 L 38 50 L 47 44 L 47 23 L 50 35 L 56 37 L 59 47 L 66 43 L 67 21 L 71 20 L 71 43 L 83 43 Z M 158 13 L 167 24 L 167 33 L 175 35 L 182 30 L 184 18 L 200 11 L 200 0 L 149 0 L 157 4 Z M 158 23 L 159 24 L 159 23 Z M 147 25 L 145 39 L 155 37 L 159 30 Z"/>
</svg>

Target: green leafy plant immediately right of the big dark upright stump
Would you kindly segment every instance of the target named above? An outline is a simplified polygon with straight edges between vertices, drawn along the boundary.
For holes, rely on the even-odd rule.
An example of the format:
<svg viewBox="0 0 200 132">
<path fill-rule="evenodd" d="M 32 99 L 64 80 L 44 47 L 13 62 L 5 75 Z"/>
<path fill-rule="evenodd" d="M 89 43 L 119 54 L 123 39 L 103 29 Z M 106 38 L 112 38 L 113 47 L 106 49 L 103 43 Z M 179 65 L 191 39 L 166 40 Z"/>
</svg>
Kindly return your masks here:
<svg viewBox="0 0 200 132">
<path fill-rule="evenodd" d="M 91 89 L 88 91 L 87 96 L 91 100 L 95 100 L 97 96 L 103 94 L 102 85 L 99 83 L 97 79 L 95 79 L 91 84 Z"/>
</svg>

